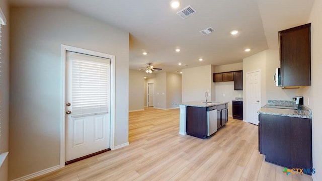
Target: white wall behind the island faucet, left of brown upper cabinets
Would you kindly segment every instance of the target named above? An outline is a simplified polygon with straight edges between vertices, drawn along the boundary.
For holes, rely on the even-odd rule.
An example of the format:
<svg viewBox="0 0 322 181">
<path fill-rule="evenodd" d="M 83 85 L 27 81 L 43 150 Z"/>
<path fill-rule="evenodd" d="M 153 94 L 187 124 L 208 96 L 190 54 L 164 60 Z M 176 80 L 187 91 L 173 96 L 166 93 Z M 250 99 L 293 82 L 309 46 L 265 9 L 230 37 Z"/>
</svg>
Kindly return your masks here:
<svg viewBox="0 0 322 181">
<path fill-rule="evenodd" d="M 210 93 L 212 100 L 213 75 L 212 65 L 205 65 L 182 70 L 182 102 L 205 101 L 205 92 Z"/>
</svg>

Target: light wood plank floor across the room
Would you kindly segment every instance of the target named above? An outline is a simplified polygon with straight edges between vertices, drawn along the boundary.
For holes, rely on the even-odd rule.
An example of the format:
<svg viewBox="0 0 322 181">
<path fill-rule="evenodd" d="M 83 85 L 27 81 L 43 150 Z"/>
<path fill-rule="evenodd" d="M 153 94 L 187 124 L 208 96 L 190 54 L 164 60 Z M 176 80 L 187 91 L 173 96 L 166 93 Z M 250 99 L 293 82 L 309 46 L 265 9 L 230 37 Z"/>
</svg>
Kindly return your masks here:
<svg viewBox="0 0 322 181">
<path fill-rule="evenodd" d="M 229 118 L 207 139 L 182 136 L 179 109 L 129 113 L 130 145 L 31 180 L 311 180 L 258 151 L 258 127 Z"/>
</svg>

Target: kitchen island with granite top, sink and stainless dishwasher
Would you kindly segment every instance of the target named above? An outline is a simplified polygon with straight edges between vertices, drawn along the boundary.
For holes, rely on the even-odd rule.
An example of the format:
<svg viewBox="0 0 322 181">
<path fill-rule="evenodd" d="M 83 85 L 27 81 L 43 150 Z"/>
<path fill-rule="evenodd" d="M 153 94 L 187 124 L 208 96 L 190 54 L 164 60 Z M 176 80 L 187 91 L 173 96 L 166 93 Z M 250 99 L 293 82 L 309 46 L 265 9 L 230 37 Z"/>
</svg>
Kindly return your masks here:
<svg viewBox="0 0 322 181">
<path fill-rule="evenodd" d="M 185 102 L 180 106 L 179 134 L 206 138 L 228 121 L 229 102 Z"/>
</svg>

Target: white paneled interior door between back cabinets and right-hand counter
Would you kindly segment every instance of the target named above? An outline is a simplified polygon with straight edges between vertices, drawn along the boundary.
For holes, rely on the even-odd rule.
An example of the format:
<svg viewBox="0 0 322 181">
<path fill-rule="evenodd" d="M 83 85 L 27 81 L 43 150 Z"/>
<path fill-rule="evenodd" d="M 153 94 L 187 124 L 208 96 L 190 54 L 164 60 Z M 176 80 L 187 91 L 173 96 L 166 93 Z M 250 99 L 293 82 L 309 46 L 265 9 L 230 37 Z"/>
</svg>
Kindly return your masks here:
<svg viewBox="0 0 322 181">
<path fill-rule="evenodd" d="M 247 122 L 258 125 L 258 113 L 261 109 L 261 72 L 247 73 Z"/>
</svg>

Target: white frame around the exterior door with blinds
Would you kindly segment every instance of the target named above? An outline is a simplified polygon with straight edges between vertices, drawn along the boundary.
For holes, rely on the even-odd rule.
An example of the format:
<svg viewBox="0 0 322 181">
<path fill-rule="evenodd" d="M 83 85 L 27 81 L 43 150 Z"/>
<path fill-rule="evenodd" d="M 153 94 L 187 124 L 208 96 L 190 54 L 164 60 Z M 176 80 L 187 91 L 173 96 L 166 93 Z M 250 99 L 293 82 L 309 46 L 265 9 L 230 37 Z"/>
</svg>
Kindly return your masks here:
<svg viewBox="0 0 322 181">
<path fill-rule="evenodd" d="M 115 56 L 96 52 L 92 50 L 86 50 L 83 48 L 76 48 L 68 45 L 61 45 L 61 71 L 62 71 L 62 78 L 61 78 L 61 121 L 60 121 L 60 167 L 65 166 L 65 134 L 66 134 L 66 116 L 65 116 L 65 103 L 66 103 L 66 51 L 72 51 L 76 53 L 83 53 L 87 55 L 99 56 L 103 58 L 111 59 L 111 112 L 110 112 L 110 148 L 111 150 L 114 149 L 114 136 L 115 136 Z"/>
</svg>

